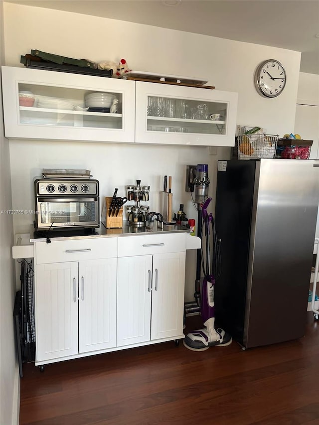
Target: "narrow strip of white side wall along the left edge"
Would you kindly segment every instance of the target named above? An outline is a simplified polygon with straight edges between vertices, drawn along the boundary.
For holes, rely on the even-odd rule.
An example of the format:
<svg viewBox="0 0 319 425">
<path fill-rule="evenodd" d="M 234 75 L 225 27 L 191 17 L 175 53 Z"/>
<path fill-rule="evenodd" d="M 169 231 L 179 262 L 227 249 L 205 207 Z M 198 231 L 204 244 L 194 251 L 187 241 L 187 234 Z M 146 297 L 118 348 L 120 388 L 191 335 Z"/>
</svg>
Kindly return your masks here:
<svg viewBox="0 0 319 425">
<path fill-rule="evenodd" d="M 3 3 L 0 1 L 0 64 L 3 64 Z M 1 96 L 1 88 L 0 88 Z M 0 211 L 11 210 L 9 142 L 3 135 L 0 104 Z M 0 424 L 17 423 L 19 378 L 16 363 L 13 304 L 15 283 L 11 246 L 12 216 L 0 213 Z"/>
</svg>

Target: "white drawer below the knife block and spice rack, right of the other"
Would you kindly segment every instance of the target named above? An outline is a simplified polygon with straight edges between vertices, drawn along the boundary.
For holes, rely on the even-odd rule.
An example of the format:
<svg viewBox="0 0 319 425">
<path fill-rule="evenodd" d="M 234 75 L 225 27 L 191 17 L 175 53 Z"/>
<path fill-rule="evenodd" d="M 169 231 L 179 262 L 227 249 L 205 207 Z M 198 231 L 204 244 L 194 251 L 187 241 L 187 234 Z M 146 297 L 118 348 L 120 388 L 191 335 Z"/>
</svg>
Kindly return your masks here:
<svg viewBox="0 0 319 425">
<path fill-rule="evenodd" d="M 118 256 L 180 252 L 186 249 L 186 233 L 128 236 L 118 239 Z"/>
</svg>

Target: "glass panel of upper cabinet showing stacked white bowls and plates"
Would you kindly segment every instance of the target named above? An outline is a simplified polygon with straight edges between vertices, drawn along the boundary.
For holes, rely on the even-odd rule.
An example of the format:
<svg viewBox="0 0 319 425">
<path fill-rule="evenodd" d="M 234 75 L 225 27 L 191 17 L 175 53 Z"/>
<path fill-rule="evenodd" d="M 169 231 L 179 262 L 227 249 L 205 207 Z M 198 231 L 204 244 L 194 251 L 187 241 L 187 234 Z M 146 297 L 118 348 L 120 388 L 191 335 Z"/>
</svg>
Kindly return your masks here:
<svg viewBox="0 0 319 425">
<path fill-rule="evenodd" d="M 37 126 L 123 129 L 123 95 L 18 83 L 19 123 Z"/>
</svg>

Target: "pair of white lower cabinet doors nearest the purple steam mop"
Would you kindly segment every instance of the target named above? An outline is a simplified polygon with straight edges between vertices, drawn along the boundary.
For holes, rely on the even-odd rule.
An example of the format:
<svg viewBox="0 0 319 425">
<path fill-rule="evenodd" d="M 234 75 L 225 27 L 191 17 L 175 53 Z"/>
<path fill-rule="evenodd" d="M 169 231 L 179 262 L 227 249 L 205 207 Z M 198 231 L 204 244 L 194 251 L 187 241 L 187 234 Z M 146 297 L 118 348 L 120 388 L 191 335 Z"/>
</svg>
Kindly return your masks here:
<svg viewBox="0 0 319 425">
<path fill-rule="evenodd" d="M 184 281 L 185 251 L 119 258 L 117 346 L 178 339 Z"/>
</svg>

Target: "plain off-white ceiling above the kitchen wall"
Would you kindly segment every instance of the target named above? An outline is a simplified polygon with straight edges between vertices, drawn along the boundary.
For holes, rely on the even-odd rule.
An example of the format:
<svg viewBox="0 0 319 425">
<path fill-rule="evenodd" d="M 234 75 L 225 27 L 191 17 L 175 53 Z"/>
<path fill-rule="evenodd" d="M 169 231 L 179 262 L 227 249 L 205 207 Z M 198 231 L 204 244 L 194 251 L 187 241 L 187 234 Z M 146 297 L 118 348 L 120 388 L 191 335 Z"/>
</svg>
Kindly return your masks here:
<svg viewBox="0 0 319 425">
<path fill-rule="evenodd" d="M 300 70 L 319 74 L 319 0 L 4 1 L 296 50 Z"/>
</svg>

